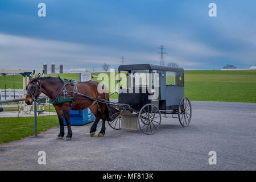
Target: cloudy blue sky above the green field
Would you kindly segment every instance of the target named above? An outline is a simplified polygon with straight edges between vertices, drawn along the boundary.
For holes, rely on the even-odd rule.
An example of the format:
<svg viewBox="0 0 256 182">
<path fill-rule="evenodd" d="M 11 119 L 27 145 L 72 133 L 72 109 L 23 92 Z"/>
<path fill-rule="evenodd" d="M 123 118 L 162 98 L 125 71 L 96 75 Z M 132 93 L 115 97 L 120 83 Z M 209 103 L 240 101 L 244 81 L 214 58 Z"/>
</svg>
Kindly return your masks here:
<svg viewBox="0 0 256 182">
<path fill-rule="evenodd" d="M 46 17 L 38 4 L 46 3 Z M 209 17 L 208 5 L 217 5 Z M 256 64 L 256 1 L 0 1 L 0 68 L 42 69 L 43 63 L 101 70 L 108 63 L 220 69 Z"/>
</svg>

